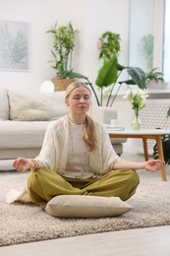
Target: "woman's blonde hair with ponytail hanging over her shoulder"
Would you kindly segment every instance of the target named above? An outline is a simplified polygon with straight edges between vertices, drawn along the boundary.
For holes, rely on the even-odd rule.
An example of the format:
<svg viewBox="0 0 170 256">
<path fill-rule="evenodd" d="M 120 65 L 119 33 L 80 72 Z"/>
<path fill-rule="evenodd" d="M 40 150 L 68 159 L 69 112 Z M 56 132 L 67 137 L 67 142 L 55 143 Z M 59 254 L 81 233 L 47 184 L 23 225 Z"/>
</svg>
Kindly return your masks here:
<svg viewBox="0 0 170 256">
<path fill-rule="evenodd" d="M 89 88 L 87 88 L 87 86 L 83 82 L 74 82 L 66 89 L 65 100 L 71 95 L 71 93 L 75 89 L 81 88 L 81 87 L 84 87 L 86 90 L 88 90 L 88 92 L 91 95 Z M 85 116 L 83 139 L 85 141 L 87 151 L 91 152 L 96 149 L 97 136 L 95 133 L 94 122 L 93 122 L 92 118 L 90 116 L 88 116 L 87 114 Z"/>
</svg>

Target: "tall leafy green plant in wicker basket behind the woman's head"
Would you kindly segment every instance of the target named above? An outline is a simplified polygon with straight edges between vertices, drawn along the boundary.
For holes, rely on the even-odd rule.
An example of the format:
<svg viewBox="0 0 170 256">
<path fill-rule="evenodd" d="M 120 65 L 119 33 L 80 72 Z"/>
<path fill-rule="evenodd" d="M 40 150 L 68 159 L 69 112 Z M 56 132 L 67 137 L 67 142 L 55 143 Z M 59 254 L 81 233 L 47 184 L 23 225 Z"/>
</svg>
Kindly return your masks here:
<svg viewBox="0 0 170 256">
<path fill-rule="evenodd" d="M 58 26 L 57 22 L 49 31 L 53 37 L 52 68 L 56 70 L 56 77 L 52 79 L 56 91 L 64 91 L 75 78 L 84 78 L 73 72 L 73 52 L 78 31 L 71 22 L 66 26 Z"/>
</svg>

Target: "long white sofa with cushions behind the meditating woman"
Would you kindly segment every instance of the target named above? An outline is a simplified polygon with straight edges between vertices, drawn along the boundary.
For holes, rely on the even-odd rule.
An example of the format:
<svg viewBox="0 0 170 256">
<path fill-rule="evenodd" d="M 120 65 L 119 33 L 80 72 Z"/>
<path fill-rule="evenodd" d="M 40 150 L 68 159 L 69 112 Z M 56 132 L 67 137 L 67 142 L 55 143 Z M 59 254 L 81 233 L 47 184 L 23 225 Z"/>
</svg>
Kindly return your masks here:
<svg viewBox="0 0 170 256">
<path fill-rule="evenodd" d="M 68 113 L 64 94 L 32 95 L 0 88 L 0 160 L 38 155 L 49 122 Z M 106 124 L 117 118 L 117 111 L 109 107 L 93 106 L 89 114 Z M 112 139 L 119 155 L 123 152 L 124 142 L 126 139 Z"/>
</svg>

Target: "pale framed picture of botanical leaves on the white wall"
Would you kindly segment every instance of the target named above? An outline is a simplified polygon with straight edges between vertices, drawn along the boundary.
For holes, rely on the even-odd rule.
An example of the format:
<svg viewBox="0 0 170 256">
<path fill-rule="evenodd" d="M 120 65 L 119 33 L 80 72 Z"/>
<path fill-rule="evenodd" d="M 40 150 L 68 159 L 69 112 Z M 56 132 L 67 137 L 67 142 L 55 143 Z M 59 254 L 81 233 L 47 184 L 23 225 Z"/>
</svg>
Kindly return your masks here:
<svg viewBox="0 0 170 256">
<path fill-rule="evenodd" d="M 29 25 L 0 20 L 0 70 L 29 71 Z"/>
</svg>

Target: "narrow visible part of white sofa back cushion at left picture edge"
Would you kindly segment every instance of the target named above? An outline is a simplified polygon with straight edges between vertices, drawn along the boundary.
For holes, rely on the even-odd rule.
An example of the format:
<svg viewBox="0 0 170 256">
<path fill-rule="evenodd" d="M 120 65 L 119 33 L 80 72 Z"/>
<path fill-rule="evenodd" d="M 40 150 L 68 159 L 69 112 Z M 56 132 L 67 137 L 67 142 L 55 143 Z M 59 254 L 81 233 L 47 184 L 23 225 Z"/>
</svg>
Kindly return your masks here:
<svg viewBox="0 0 170 256">
<path fill-rule="evenodd" d="M 7 90 L 0 88 L 0 120 L 9 119 L 9 103 Z"/>
</svg>

